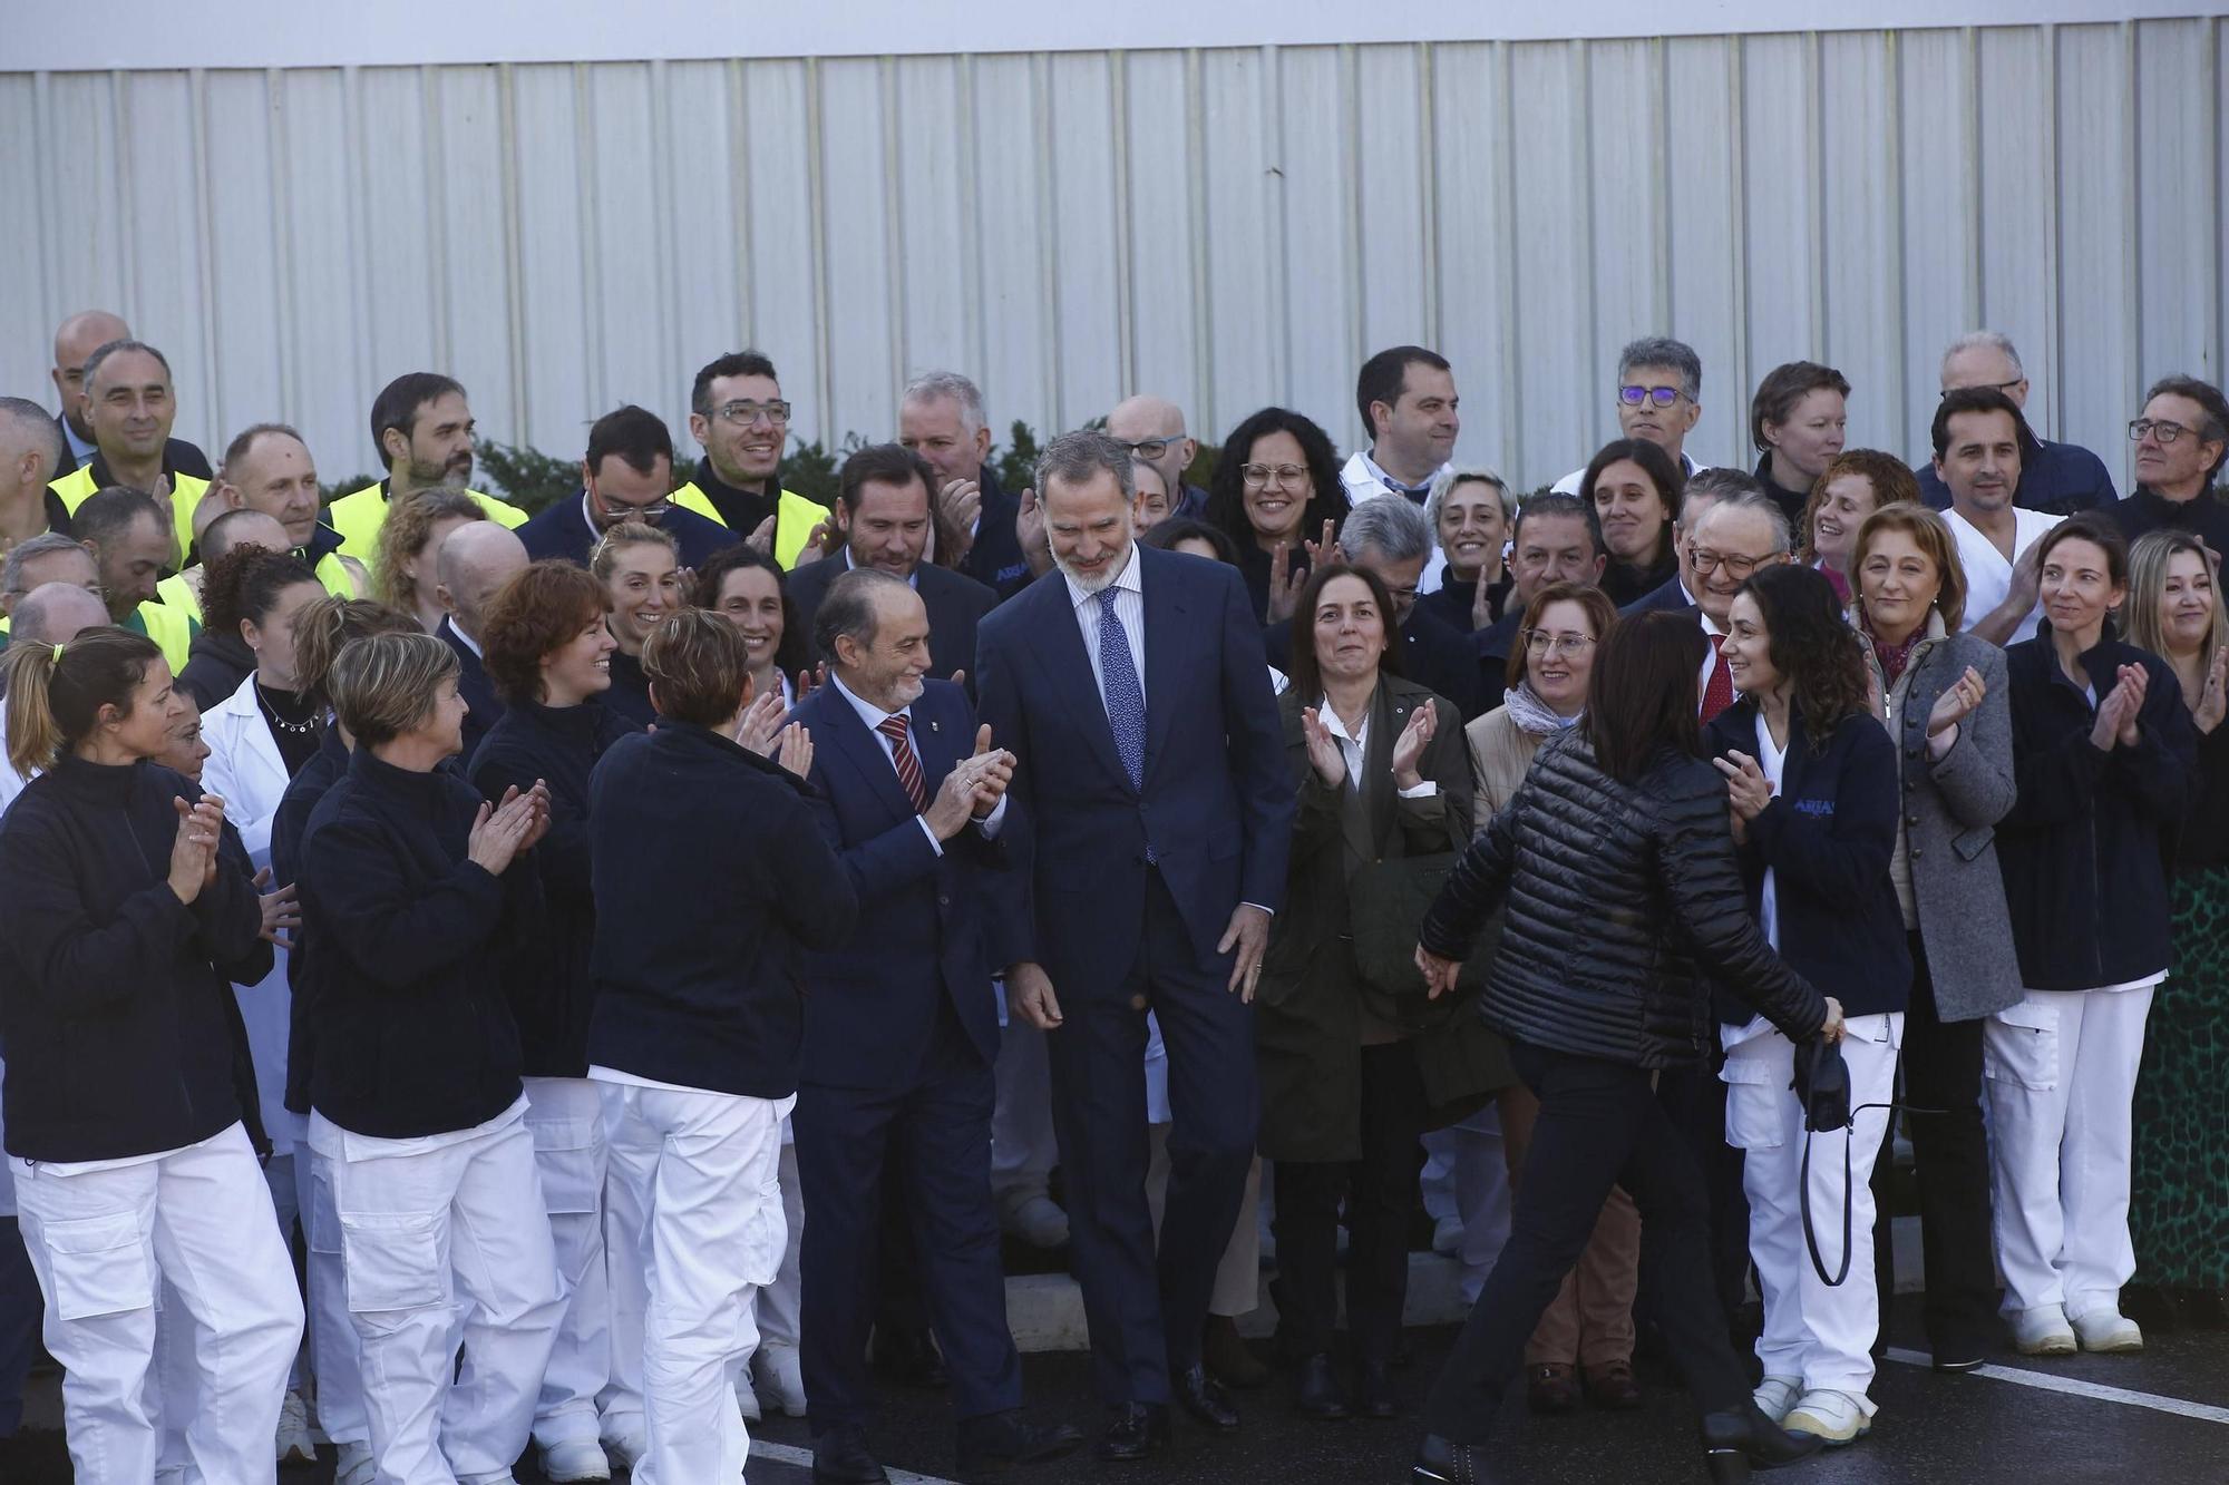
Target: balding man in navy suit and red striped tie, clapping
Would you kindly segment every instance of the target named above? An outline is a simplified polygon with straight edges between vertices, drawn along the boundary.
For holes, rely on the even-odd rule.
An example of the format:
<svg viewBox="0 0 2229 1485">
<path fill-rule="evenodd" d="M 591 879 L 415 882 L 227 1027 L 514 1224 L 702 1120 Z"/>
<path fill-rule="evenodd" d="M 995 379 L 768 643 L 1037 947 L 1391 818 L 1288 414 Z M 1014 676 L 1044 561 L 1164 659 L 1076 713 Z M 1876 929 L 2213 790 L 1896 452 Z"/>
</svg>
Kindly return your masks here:
<svg viewBox="0 0 2229 1485">
<path fill-rule="evenodd" d="M 1016 1416 L 990 1193 L 999 1012 L 994 905 L 1014 758 L 976 729 L 967 693 L 929 669 L 929 615 L 898 578 L 863 569 L 816 620 L 829 682 L 798 702 L 814 738 L 814 814 L 860 899 L 843 948 L 814 954 L 798 1079 L 802 1365 L 814 1478 L 874 1485 L 865 1347 L 885 1166 L 903 1177 L 918 1273 L 958 1411 L 961 1474 L 1070 1452 L 1074 1429 Z"/>
</svg>

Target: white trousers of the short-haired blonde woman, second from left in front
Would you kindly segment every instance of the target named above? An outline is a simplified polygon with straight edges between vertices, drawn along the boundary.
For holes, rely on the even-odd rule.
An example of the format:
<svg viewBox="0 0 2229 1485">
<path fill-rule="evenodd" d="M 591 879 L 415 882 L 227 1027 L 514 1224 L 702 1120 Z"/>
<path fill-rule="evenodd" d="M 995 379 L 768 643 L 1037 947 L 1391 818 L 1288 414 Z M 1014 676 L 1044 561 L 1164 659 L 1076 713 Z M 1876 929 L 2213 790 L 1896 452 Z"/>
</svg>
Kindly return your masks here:
<svg viewBox="0 0 2229 1485">
<path fill-rule="evenodd" d="M 526 1449 L 564 1287 L 524 1113 L 522 1097 L 432 1139 L 310 1119 L 330 1157 L 381 1485 L 508 1478 Z"/>
</svg>

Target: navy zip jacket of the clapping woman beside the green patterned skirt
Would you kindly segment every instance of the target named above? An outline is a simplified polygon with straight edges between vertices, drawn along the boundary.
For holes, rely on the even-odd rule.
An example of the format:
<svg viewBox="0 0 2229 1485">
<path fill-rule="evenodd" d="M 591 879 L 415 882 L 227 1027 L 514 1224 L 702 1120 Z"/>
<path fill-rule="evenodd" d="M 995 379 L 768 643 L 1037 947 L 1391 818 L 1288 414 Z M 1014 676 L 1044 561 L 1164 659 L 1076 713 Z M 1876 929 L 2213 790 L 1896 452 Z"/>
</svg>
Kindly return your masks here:
<svg viewBox="0 0 2229 1485">
<path fill-rule="evenodd" d="M 2196 796 L 2198 727 L 2173 669 L 2111 627 L 2082 656 L 2100 700 L 2122 664 L 2149 673 L 2138 745 L 2097 751 L 2097 711 L 2060 669 L 2051 624 L 2004 651 L 2019 796 L 1997 827 L 1997 863 L 2031 990 L 2095 990 L 2169 965 L 2167 872 Z"/>
</svg>

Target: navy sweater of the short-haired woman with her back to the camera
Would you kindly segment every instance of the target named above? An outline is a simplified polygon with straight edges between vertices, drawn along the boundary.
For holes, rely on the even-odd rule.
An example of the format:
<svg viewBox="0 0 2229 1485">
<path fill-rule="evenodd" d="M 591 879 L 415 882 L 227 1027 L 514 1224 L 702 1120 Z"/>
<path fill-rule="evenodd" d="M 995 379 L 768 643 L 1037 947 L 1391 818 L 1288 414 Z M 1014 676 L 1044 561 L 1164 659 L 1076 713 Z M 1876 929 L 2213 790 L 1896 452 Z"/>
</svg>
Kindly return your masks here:
<svg viewBox="0 0 2229 1485">
<path fill-rule="evenodd" d="M 843 948 L 858 916 L 805 780 L 660 720 L 595 767 L 588 838 L 588 1061 L 709 1093 L 796 1093 L 800 961 Z"/>
</svg>

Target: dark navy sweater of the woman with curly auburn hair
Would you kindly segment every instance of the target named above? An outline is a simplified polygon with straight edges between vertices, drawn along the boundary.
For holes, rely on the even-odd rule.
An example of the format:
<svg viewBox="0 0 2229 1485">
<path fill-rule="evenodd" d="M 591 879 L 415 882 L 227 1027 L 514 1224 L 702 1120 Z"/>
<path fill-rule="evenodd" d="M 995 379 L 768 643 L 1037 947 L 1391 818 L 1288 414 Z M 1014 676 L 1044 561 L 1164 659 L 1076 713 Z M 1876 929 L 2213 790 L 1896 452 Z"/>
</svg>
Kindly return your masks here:
<svg viewBox="0 0 2229 1485">
<path fill-rule="evenodd" d="M 709 524 L 709 522 L 707 522 Z M 548 932 L 504 957 L 504 994 L 519 1023 L 526 1077 L 588 1075 L 588 948 L 595 892 L 588 881 L 588 771 L 633 722 L 604 709 L 513 702 L 473 754 L 473 787 L 490 803 L 504 789 L 551 787 L 551 829 L 535 847 Z"/>
</svg>

